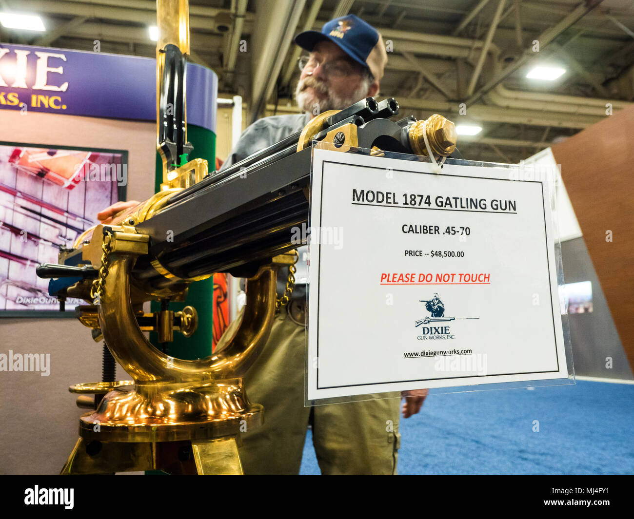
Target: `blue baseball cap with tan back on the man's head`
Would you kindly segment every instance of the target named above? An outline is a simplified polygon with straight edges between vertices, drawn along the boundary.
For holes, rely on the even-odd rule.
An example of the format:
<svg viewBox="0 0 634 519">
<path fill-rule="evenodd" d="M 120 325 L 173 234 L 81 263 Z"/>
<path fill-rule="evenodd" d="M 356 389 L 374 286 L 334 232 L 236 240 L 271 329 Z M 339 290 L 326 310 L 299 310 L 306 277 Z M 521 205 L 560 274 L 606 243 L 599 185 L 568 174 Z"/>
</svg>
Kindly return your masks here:
<svg viewBox="0 0 634 519">
<path fill-rule="evenodd" d="M 383 77 L 387 63 L 383 38 L 358 16 L 341 16 L 327 22 L 321 32 L 306 30 L 295 36 L 295 43 L 309 52 L 320 41 L 332 41 L 354 61 L 368 68 L 375 79 Z"/>
</svg>

